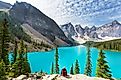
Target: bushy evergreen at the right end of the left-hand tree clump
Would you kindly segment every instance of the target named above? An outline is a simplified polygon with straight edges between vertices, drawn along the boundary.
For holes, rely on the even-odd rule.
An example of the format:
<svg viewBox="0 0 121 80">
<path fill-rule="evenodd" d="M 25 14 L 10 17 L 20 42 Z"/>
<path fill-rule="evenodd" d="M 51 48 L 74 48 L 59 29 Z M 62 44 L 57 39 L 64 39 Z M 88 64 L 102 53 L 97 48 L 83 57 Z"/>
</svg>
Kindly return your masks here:
<svg viewBox="0 0 121 80">
<path fill-rule="evenodd" d="M 19 57 L 16 60 L 16 62 L 13 64 L 12 69 L 14 76 L 16 77 L 21 74 L 28 74 L 31 72 L 30 64 L 28 63 L 27 59 L 27 46 L 25 49 L 23 40 L 20 41 Z"/>
</svg>

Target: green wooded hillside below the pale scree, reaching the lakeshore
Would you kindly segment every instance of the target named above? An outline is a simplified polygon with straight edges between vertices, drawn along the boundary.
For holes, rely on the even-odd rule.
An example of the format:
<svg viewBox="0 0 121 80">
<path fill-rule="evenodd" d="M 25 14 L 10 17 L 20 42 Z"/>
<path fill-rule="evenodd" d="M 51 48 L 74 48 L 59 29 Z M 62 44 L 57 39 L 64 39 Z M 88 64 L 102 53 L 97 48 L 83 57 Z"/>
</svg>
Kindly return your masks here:
<svg viewBox="0 0 121 80">
<path fill-rule="evenodd" d="M 2 23 L 4 19 L 7 19 L 8 21 L 8 29 L 11 43 L 10 49 L 13 49 L 13 44 L 15 40 L 17 40 L 19 43 L 19 40 L 21 39 L 26 43 L 26 45 L 29 45 L 29 51 L 47 51 L 52 48 L 52 46 L 45 44 L 44 42 L 38 43 L 37 41 L 32 40 L 31 36 L 23 30 L 21 24 L 17 20 L 13 19 L 10 15 L 8 15 L 8 13 L 0 11 L 0 23 Z"/>
</svg>

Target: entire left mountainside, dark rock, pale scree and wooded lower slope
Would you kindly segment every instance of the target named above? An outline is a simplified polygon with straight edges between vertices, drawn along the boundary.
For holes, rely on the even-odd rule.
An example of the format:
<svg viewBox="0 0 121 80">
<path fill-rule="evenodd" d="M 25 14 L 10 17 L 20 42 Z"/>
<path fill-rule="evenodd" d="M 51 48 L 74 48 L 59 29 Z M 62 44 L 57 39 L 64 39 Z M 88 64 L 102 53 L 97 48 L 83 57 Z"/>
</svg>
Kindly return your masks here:
<svg viewBox="0 0 121 80">
<path fill-rule="evenodd" d="M 0 4 L 7 4 L 0 2 Z M 2 5 L 1 5 L 2 6 Z M 45 44 L 44 46 L 70 46 L 70 41 L 54 20 L 40 10 L 25 2 L 16 2 L 11 7 L 2 7 L 0 19 L 8 19 L 12 39 L 24 39 L 27 43 Z"/>
</svg>

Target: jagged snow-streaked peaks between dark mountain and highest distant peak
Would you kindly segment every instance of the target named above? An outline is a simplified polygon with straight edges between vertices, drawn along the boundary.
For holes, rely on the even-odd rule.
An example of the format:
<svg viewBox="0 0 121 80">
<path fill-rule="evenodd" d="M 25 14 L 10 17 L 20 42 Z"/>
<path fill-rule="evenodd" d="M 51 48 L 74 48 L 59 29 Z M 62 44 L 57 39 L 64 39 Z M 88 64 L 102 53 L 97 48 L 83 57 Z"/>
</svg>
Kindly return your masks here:
<svg viewBox="0 0 121 80">
<path fill-rule="evenodd" d="M 61 25 L 60 27 L 68 38 L 72 38 L 79 43 L 85 43 L 87 40 L 99 39 L 95 26 L 92 28 L 89 28 L 88 26 L 82 28 L 80 24 L 73 26 L 72 23 L 68 23 Z"/>
</svg>

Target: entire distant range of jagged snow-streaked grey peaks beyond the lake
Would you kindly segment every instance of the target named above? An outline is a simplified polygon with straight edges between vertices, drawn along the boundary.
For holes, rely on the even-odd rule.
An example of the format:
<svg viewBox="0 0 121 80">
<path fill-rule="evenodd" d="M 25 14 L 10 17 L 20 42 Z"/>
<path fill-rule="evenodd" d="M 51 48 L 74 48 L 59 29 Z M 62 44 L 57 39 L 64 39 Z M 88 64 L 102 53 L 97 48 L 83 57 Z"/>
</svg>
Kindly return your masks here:
<svg viewBox="0 0 121 80">
<path fill-rule="evenodd" d="M 121 38 L 121 24 L 116 20 L 100 27 L 92 26 L 91 28 L 89 28 L 88 26 L 82 28 L 80 25 L 73 26 L 71 24 L 71 27 L 73 27 L 73 34 L 77 35 L 70 35 L 72 30 L 70 29 L 69 24 L 64 25 L 66 27 L 65 29 L 63 29 L 63 25 L 61 25 L 61 29 L 65 32 L 65 34 L 68 34 L 68 36 L 71 36 L 71 38 L 80 43 L 83 43 L 88 40 L 105 41 L 110 39 Z"/>
</svg>

